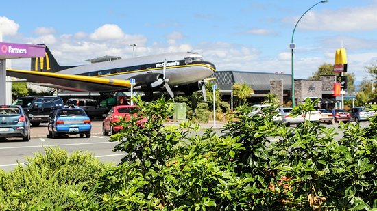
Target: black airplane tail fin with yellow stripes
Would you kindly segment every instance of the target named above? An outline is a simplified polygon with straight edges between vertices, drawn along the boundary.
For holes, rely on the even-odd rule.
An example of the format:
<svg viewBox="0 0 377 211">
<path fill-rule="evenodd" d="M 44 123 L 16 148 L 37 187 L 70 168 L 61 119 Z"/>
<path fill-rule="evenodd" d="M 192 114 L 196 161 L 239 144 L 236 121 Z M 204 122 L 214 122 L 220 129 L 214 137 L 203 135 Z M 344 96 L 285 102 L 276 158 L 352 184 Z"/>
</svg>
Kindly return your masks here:
<svg viewBox="0 0 377 211">
<path fill-rule="evenodd" d="M 51 51 L 45 46 L 45 57 L 32 58 L 31 68 L 32 71 L 41 72 L 58 72 L 67 68 L 73 68 L 75 66 L 60 66 L 55 57 L 53 57 Z"/>
</svg>

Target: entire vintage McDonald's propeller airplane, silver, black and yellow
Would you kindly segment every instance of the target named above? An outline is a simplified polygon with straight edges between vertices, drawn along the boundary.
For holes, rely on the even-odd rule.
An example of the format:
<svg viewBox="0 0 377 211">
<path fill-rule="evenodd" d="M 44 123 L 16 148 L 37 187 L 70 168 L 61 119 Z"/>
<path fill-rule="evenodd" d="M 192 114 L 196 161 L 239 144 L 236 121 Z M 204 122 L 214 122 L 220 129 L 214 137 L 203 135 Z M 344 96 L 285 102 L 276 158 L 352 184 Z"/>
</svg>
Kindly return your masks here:
<svg viewBox="0 0 377 211">
<path fill-rule="evenodd" d="M 60 66 L 46 46 L 45 57 L 32 58 L 31 70 L 7 69 L 7 75 L 46 87 L 78 92 L 127 92 L 130 79 L 134 91 L 151 95 L 173 91 L 187 94 L 202 89 L 215 65 L 198 53 L 164 53 L 81 66 Z M 205 98 L 205 96 L 204 96 Z"/>
</svg>

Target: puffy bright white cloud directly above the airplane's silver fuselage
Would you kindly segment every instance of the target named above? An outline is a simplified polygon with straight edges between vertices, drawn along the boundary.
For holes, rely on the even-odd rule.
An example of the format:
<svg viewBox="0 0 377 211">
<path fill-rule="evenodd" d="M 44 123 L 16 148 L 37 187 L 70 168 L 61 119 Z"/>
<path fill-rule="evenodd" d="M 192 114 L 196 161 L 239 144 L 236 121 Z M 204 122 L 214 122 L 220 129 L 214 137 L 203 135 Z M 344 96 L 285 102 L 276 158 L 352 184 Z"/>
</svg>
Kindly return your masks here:
<svg viewBox="0 0 377 211">
<path fill-rule="evenodd" d="M 101 40 L 117 40 L 125 36 L 122 29 L 118 25 L 105 24 L 90 34 L 90 38 L 95 41 Z"/>
</svg>

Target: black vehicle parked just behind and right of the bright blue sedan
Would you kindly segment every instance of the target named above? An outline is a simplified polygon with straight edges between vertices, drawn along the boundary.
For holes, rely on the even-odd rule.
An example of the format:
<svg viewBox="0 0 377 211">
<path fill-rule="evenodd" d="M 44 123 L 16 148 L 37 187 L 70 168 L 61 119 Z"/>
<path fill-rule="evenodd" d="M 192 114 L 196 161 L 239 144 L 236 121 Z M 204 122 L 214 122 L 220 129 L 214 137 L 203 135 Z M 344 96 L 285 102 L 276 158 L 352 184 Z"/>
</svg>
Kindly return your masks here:
<svg viewBox="0 0 377 211">
<path fill-rule="evenodd" d="M 66 100 L 66 106 L 74 105 L 80 107 L 90 118 L 102 117 L 106 113 L 106 108 L 101 107 L 97 100 L 85 99 L 85 98 L 71 98 Z"/>
</svg>

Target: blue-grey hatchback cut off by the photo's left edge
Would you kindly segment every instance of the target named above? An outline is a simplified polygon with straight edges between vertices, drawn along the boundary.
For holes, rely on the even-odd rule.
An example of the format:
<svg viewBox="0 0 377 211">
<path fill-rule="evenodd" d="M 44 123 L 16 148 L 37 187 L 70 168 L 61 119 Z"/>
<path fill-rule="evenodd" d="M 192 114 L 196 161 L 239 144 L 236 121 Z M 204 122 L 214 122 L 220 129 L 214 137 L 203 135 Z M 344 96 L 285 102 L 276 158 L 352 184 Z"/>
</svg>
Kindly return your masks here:
<svg viewBox="0 0 377 211">
<path fill-rule="evenodd" d="M 21 106 L 0 106 L 0 137 L 22 137 L 30 140 L 30 122 Z"/>
</svg>

